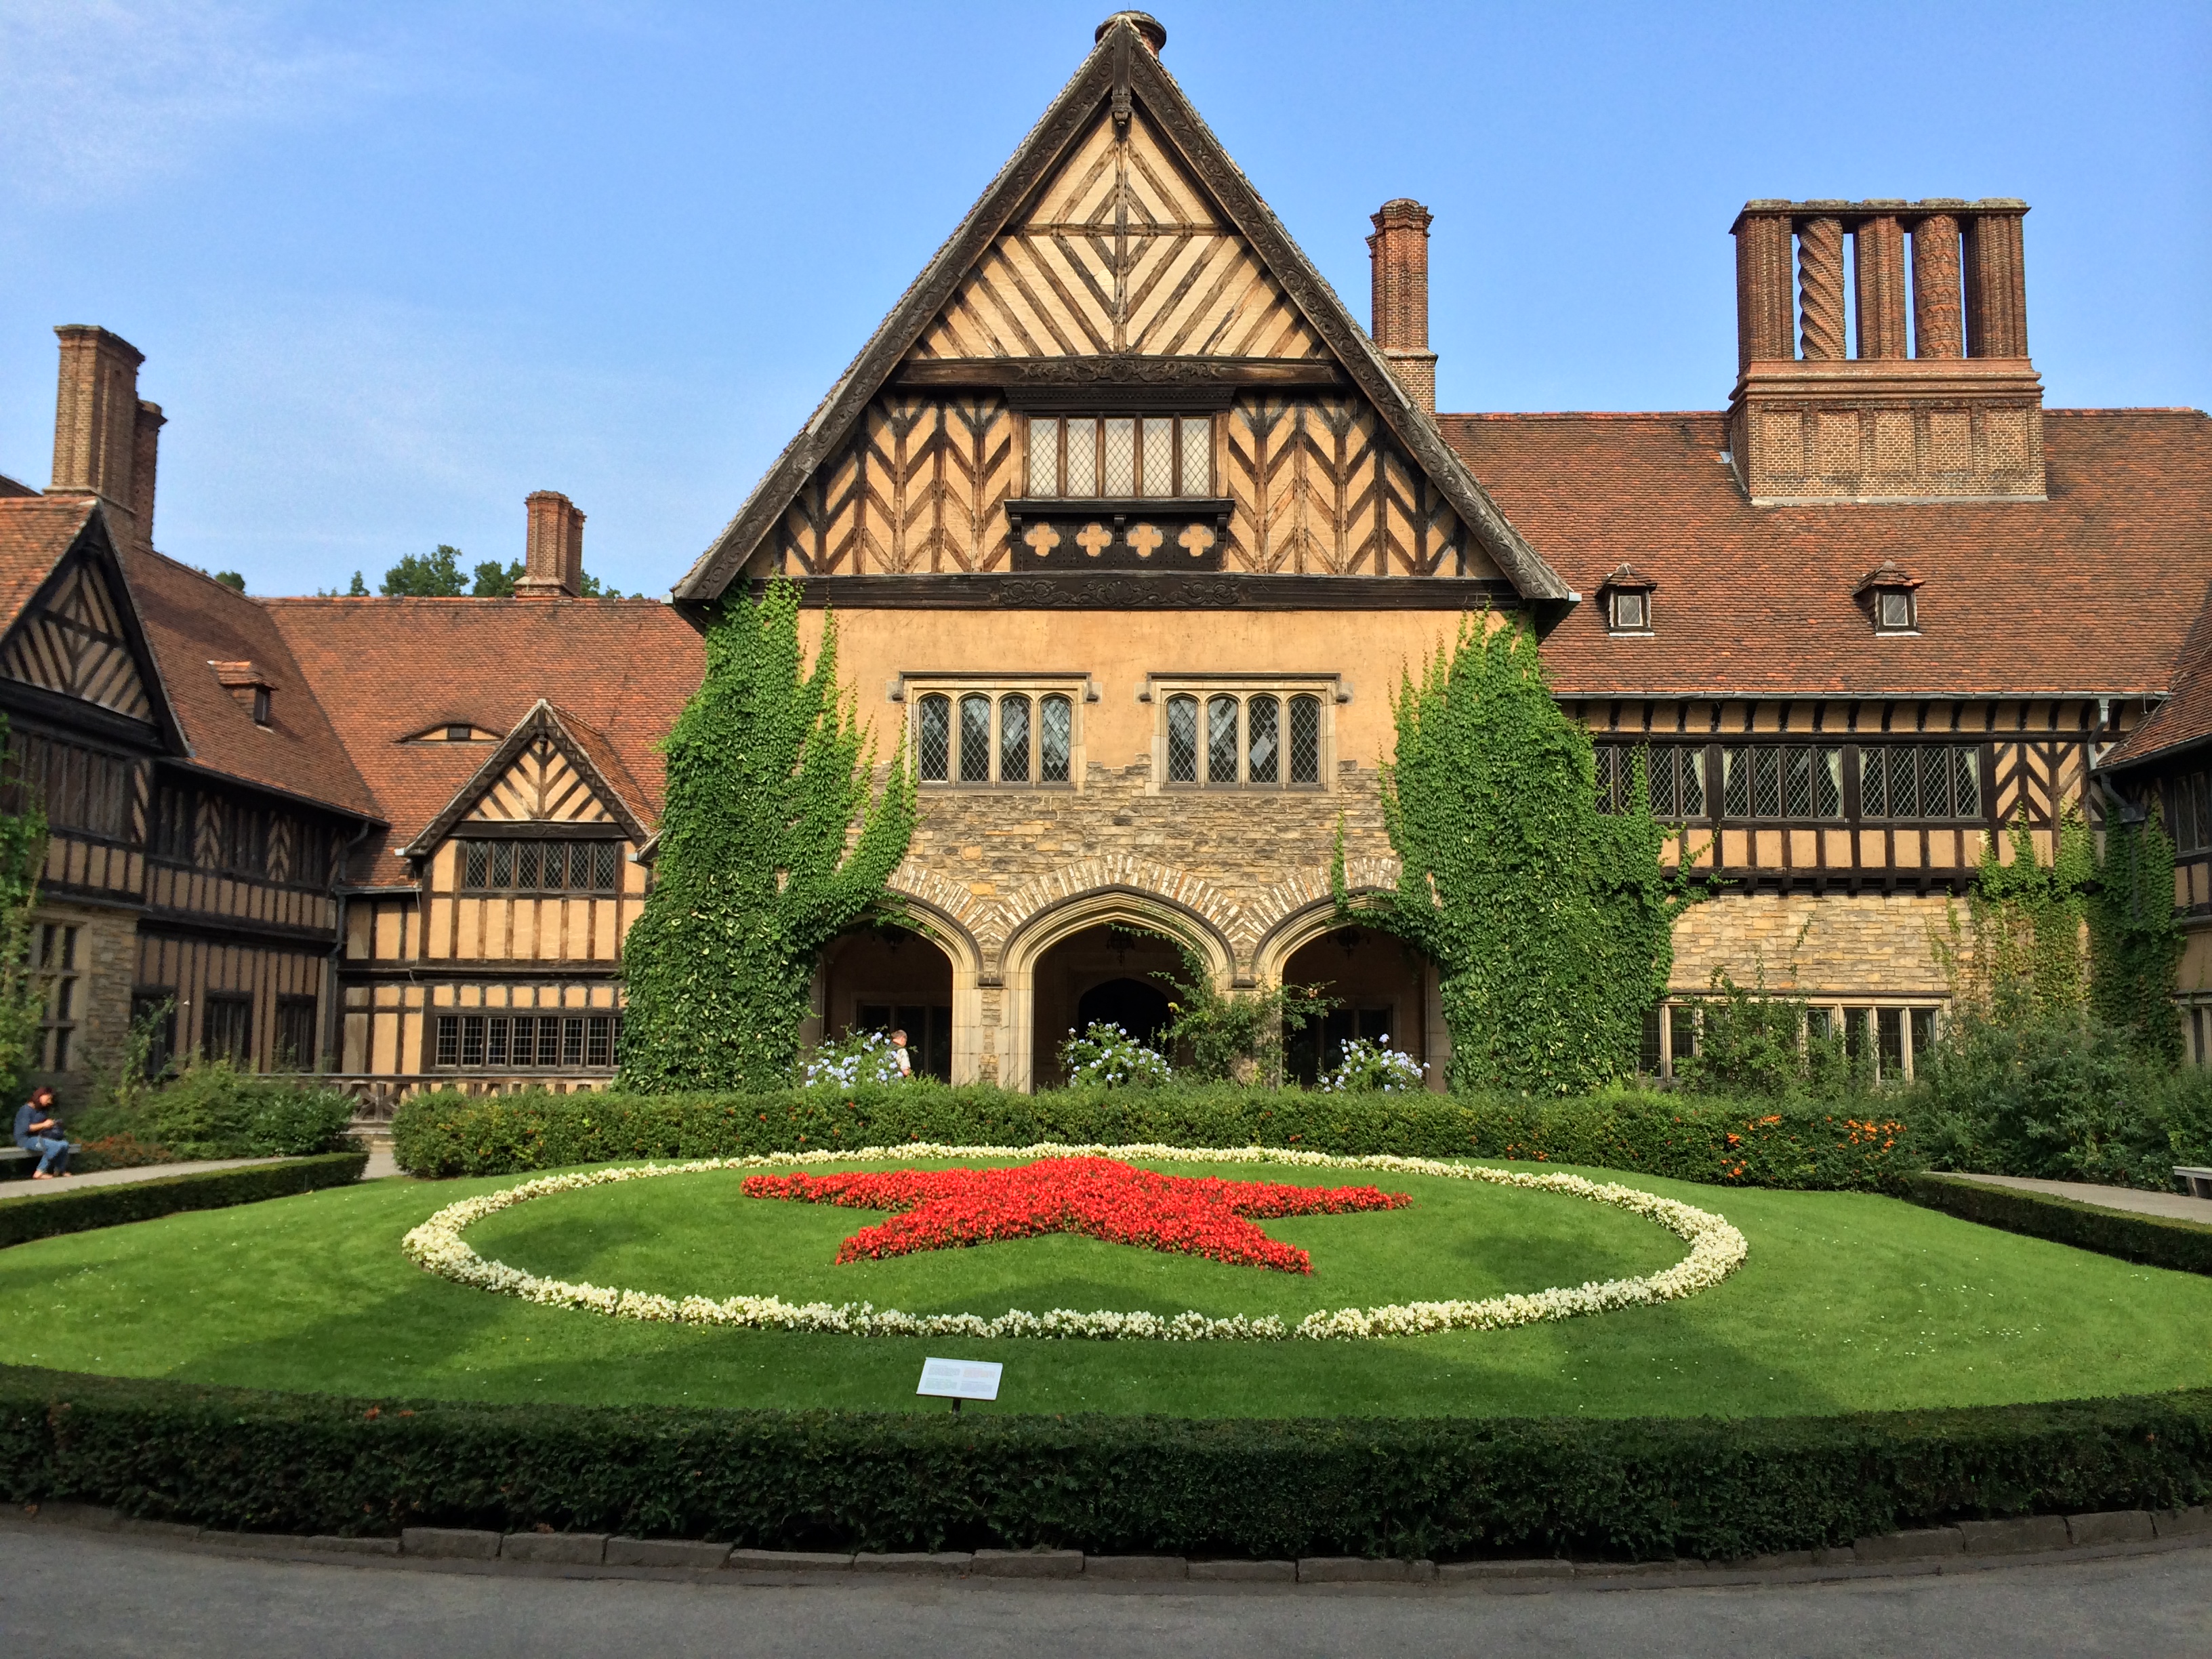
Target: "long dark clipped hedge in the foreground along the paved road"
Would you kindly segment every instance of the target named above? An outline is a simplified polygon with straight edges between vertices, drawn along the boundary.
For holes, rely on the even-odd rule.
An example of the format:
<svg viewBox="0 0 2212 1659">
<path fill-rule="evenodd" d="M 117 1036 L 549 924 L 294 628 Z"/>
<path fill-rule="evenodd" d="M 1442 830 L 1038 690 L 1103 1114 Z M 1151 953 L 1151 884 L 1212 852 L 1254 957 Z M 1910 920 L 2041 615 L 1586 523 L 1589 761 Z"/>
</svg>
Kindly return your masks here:
<svg viewBox="0 0 2212 1659">
<path fill-rule="evenodd" d="M 2212 1493 L 2212 1389 L 1728 1422 L 1265 1422 L 405 1405 L 7 1367 L 0 1491 L 261 1533 L 1743 1559 L 1955 1517 L 2188 1509 Z"/>
</svg>

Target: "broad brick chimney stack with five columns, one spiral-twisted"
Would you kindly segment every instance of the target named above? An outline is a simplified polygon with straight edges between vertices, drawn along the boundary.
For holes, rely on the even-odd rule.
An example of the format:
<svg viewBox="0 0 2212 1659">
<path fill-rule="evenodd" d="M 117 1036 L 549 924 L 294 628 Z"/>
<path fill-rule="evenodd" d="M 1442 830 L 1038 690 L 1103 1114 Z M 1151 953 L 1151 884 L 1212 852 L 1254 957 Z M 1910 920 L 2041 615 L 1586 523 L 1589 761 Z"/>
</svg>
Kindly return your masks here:
<svg viewBox="0 0 2212 1659">
<path fill-rule="evenodd" d="M 1739 374 L 1728 425 L 1754 502 L 2044 498 L 2026 210 L 1997 197 L 1743 204 L 1732 228 Z"/>
</svg>

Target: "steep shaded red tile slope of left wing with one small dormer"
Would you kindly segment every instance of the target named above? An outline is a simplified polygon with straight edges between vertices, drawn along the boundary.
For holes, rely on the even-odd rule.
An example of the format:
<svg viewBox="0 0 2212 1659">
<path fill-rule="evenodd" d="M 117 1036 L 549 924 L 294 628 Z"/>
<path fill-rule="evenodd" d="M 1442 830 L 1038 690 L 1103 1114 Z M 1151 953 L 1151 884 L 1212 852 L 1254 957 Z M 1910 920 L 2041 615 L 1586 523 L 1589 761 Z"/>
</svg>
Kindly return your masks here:
<svg viewBox="0 0 2212 1659">
<path fill-rule="evenodd" d="M 159 553 L 126 549 L 122 564 L 195 765 L 341 812 L 383 816 L 332 730 L 327 703 L 316 699 L 259 599 Z M 252 708 L 223 686 L 223 672 L 239 661 L 268 677 L 268 726 L 257 726 Z"/>
</svg>

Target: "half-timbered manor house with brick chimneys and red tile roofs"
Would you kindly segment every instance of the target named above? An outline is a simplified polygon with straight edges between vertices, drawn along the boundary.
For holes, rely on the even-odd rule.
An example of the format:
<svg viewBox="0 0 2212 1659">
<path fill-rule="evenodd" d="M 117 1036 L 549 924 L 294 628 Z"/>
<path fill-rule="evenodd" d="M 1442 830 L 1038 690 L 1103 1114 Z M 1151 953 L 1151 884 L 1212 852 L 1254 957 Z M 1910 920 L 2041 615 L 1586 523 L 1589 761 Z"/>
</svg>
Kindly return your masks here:
<svg viewBox="0 0 2212 1659">
<path fill-rule="evenodd" d="M 1332 987 L 1301 1071 L 1389 1035 L 1442 1082 L 1433 967 L 1327 872 L 1343 825 L 1354 885 L 1391 878 L 1389 695 L 1469 615 L 1542 635 L 1599 799 L 1648 752 L 1670 856 L 1728 883 L 1648 1071 L 1725 969 L 1909 1075 L 1931 931 L 2020 814 L 2048 849 L 2157 794 L 2212 940 L 2212 425 L 2044 407 L 2026 204 L 1750 201 L 1723 409 L 1438 414 L 1429 210 L 1374 215 L 1363 327 L 1161 46 L 1099 27 L 670 604 L 577 597 L 551 491 L 513 599 L 221 588 L 153 551 L 137 354 L 62 330 L 53 487 L 0 500 L 49 1068 L 175 998 L 179 1046 L 385 1095 L 604 1082 L 655 743 L 697 619 L 772 577 L 836 608 L 922 790 L 920 931 L 838 940 L 814 1031 L 902 1024 L 947 1077 L 1044 1084 L 1071 1026 L 1157 1022 L 1170 933 L 1223 984 Z"/>
</svg>

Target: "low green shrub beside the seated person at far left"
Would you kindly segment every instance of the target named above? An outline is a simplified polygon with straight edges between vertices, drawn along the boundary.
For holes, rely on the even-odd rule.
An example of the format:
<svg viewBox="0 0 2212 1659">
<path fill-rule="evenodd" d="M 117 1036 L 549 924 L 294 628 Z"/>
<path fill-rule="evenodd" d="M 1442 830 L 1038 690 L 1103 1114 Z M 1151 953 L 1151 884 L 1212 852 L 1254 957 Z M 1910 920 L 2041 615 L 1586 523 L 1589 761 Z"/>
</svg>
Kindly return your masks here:
<svg viewBox="0 0 2212 1659">
<path fill-rule="evenodd" d="M 170 1159 L 305 1157 L 338 1150 L 352 1121 L 354 1102 L 336 1088 L 195 1060 L 175 1082 L 128 1104 L 80 1113 L 69 1133 L 124 1157 L 133 1148 L 159 1148 Z"/>
</svg>

